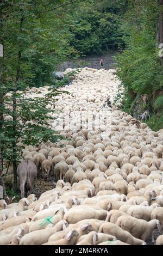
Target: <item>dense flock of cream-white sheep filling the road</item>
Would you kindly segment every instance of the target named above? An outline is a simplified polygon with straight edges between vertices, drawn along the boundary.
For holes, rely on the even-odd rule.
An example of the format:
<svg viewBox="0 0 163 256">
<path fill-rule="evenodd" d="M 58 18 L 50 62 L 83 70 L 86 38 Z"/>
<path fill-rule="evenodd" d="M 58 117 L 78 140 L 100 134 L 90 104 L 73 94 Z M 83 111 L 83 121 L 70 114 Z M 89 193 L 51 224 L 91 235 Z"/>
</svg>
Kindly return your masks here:
<svg viewBox="0 0 163 256">
<path fill-rule="evenodd" d="M 73 78 L 49 120 L 65 139 L 23 151 L 56 187 L 38 200 L 24 192 L 18 203 L 0 200 L 0 245 L 146 245 L 154 229 L 163 245 L 163 129 L 137 122 L 121 102 L 105 104 L 123 90 L 115 70 L 84 68 Z"/>
</svg>

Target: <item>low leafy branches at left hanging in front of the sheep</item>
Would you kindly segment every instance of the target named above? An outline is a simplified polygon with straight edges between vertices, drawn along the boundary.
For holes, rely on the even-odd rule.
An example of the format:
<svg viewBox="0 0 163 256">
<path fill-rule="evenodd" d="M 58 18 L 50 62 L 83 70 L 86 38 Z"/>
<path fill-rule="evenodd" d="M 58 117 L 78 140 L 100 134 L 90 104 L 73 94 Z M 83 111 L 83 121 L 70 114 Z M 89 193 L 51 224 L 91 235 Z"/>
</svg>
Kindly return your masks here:
<svg viewBox="0 0 163 256">
<path fill-rule="evenodd" d="M 24 145 L 40 145 L 42 142 L 56 142 L 61 139 L 61 136 L 56 135 L 55 131 L 48 125 L 48 120 L 54 119 L 49 115 L 49 112 L 55 111 L 55 96 L 61 92 L 55 88 L 49 90 L 45 96 L 38 96 L 34 99 L 25 96 L 27 92 L 16 93 L 17 110 L 16 120 L 13 121 L 14 111 L 8 106 L 12 102 L 12 97 L 5 97 L 4 103 L 7 102 L 7 107 L 3 112 L 10 115 L 12 120 L 3 122 L 3 130 L 0 132 L 0 138 L 3 148 L 3 157 L 6 160 L 17 162 L 21 159 L 22 149 Z M 65 92 L 66 93 L 66 92 Z M 12 95 L 14 95 L 12 93 Z M 50 105 L 52 109 L 47 108 Z M 15 125 L 15 129 L 13 129 Z M 21 141 L 21 143 L 17 143 Z M 14 143 L 14 144 L 13 144 Z M 14 145 L 14 146 L 13 146 Z M 13 153 L 13 147 L 15 151 Z"/>
</svg>

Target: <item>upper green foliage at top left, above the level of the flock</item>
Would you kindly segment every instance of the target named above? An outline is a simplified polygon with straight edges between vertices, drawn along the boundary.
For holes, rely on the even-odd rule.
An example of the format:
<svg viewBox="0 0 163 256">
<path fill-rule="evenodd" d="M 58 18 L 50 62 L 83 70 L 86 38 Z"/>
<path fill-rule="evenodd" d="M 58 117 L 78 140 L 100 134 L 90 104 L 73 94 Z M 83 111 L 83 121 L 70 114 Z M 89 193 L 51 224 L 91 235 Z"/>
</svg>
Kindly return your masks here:
<svg viewBox="0 0 163 256">
<path fill-rule="evenodd" d="M 64 7 L 48 11 L 64 3 Z M 53 84 L 57 64 L 76 51 L 70 46 L 72 35 L 67 26 L 70 17 L 65 12 L 66 4 L 70 2 L 25 0 L 22 4 L 21 0 L 5 1 L 1 31 L 5 44 L 5 80 L 15 81 L 17 55 L 21 51 L 20 80 L 30 87 Z"/>
</svg>

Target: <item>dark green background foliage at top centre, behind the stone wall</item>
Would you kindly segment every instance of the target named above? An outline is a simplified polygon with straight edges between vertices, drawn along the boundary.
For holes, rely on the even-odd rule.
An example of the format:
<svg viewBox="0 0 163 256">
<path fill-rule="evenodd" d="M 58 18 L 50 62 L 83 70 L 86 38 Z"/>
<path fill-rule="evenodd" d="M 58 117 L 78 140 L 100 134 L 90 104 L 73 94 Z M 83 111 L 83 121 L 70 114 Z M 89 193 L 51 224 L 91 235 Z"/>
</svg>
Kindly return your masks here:
<svg viewBox="0 0 163 256">
<path fill-rule="evenodd" d="M 120 28 L 123 1 L 86 0 L 72 14 L 71 45 L 81 54 L 93 54 L 123 46 Z"/>
</svg>

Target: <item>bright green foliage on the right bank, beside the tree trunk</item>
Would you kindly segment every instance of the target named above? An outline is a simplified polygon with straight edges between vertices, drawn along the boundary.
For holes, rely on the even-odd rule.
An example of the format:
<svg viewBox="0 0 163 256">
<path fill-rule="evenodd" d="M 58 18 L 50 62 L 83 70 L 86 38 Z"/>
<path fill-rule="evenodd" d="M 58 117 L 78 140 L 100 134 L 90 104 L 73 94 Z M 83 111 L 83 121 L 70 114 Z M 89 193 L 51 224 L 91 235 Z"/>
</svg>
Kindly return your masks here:
<svg viewBox="0 0 163 256">
<path fill-rule="evenodd" d="M 158 1 L 130 0 L 128 3 L 128 11 L 121 27 L 128 35 L 124 37 L 126 49 L 116 56 L 117 75 L 125 89 L 124 110 L 131 114 L 139 114 L 145 109 L 151 114 L 154 110 L 160 112 L 163 106 L 162 96 L 153 101 L 153 97 L 162 91 L 163 79 L 156 43 Z M 140 98 L 145 94 L 148 102 L 143 107 Z"/>
</svg>

